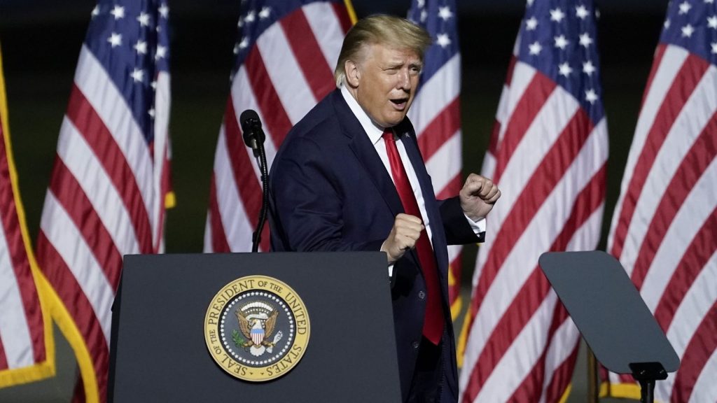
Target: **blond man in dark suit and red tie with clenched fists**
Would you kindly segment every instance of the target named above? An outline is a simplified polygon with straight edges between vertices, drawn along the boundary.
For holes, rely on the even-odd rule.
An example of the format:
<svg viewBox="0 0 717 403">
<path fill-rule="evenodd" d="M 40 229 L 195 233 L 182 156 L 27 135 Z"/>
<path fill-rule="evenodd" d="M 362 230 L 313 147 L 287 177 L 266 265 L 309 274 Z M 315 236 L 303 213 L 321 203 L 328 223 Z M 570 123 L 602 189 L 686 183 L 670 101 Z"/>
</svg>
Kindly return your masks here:
<svg viewBox="0 0 717 403">
<path fill-rule="evenodd" d="M 346 35 L 338 89 L 290 131 L 272 164 L 272 250 L 386 252 L 405 402 L 455 402 L 447 245 L 480 242 L 500 191 L 470 174 L 438 201 L 406 117 L 429 35 L 371 16 Z"/>
</svg>

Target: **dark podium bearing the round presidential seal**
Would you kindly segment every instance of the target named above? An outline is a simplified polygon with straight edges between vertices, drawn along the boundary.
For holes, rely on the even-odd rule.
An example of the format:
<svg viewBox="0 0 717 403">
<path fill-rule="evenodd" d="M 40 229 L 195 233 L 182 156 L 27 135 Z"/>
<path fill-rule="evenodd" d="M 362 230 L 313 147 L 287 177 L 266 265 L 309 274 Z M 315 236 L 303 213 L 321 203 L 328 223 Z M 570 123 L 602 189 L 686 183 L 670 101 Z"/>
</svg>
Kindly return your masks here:
<svg viewBox="0 0 717 403">
<path fill-rule="evenodd" d="M 381 252 L 128 255 L 108 401 L 400 402 L 392 316 Z"/>
</svg>

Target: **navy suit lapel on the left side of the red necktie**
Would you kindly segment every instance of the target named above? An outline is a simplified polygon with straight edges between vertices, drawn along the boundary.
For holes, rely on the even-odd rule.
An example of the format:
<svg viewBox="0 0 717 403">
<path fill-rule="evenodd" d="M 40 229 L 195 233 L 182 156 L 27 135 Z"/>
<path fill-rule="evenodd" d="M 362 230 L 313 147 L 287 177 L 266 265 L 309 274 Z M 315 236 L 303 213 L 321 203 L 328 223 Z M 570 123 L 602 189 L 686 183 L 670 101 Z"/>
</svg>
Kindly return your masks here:
<svg viewBox="0 0 717 403">
<path fill-rule="evenodd" d="M 376 148 L 369 141 L 369 136 L 366 136 L 361 123 L 346 105 L 346 100 L 343 99 L 340 90 L 334 91 L 333 100 L 343 134 L 349 138 L 348 146 L 356 154 L 356 158 L 361 161 L 361 165 L 366 169 L 366 173 L 374 186 L 376 186 L 376 189 L 379 190 L 381 196 L 383 196 L 394 217 L 404 212 L 394 181 L 391 180 L 391 176 L 389 176 L 384 163 L 381 162 L 381 158 L 376 153 Z"/>
</svg>

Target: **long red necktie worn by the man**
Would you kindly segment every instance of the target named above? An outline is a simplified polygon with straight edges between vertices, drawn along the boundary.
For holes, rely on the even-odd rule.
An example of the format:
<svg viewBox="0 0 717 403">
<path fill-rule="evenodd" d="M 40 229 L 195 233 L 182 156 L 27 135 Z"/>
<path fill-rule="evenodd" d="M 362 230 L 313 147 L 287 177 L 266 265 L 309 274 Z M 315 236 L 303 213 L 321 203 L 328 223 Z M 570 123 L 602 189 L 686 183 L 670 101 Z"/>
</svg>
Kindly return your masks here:
<svg viewBox="0 0 717 403">
<path fill-rule="evenodd" d="M 396 147 L 394 133 L 389 129 L 384 131 L 384 141 L 386 143 L 386 153 L 389 155 L 389 163 L 391 164 L 391 175 L 394 177 L 394 184 L 396 184 L 396 190 L 401 198 L 404 211 L 406 214 L 422 218 L 416 196 L 413 194 L 413 188 L 408 180 L 406 169 L 401 162 L 401 156 Z M 423 336 L 431 341 L 431 343 L 437 345 L 443 334 L 443 310 L 441 308 L 441 291 L 438 282 L 436 258 L 425 229 L 421 231 L 421 235 L 416 242 L 416 253 L 421 263 L 427 293 L 426 314 L 423 320 Z"/>
</svg>

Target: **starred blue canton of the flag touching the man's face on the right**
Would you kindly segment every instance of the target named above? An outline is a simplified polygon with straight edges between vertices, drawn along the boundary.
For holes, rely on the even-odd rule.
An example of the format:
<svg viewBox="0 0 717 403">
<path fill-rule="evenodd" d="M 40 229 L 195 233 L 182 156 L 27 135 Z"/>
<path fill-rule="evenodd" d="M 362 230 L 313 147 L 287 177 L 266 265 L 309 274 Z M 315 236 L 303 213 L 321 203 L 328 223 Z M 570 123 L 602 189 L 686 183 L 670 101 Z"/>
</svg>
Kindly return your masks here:
<svg viewBox="0 0 717 403">
<path fill-rule="evenodd" d="M 424 54 L 421 82 L 427 82 L 445 63 L 458 53 L 457 10 L 452 0 L 413 0 L 408 19 L 424 27 L 433 44 Z"/>
</svg>

